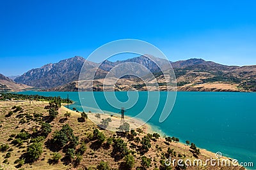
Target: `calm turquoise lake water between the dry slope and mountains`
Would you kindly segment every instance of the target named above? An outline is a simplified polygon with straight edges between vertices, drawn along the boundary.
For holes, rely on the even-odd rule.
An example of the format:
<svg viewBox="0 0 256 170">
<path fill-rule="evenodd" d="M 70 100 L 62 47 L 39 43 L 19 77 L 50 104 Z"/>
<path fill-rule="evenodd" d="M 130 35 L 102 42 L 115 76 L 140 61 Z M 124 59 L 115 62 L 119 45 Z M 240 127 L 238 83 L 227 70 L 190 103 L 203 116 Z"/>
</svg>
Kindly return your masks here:
<svg viewBox="0 0 256 170">
<path fill-rule="evenodd" d="M 150 92 L 154 96 L 154 92 Z M 168 92 L 160 92 L 161 99 L 154 116 L 148 121 L 154 130 L 167 136 L 175 136 L 184 142 L 189 140 L 200 148 L 221 152 L 239 162 L 253 162 L 256 166 L 256 93 L 243 92 L 177 92 L 170 116 L 159 123 L 161 109 Z M 75 101 L 70 108 L 83 111 L 77 92 L 20 92 L 42 96 L 69 95 Z M 104 112 L 118 113 L 104 99 L 103 92 L 94 92 L 95 99 Z M 138 102 L 125 114 L 135 116 L 147 103 L 147 92 L 138 92 Z M 128 99 L 127 92 L 115 92 L 120 101 Z M 85 111 L 97 112 L 92 98 L 83 92 Z M 151 103 L 152 106 L 157 103 Z M 120 106 L 121 107 L 121 106 Z M 142 118 L 143 119 L 143 118 Z"/>
</svg>

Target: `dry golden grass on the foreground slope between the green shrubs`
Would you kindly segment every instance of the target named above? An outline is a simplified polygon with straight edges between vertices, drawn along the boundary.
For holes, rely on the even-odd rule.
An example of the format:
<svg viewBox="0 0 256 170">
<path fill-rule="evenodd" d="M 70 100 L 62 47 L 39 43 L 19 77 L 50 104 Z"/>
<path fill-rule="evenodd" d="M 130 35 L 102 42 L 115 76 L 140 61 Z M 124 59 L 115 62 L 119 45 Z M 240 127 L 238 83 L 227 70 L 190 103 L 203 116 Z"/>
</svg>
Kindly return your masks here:
<svg viewBox="0 0 256 170">
<path fill-rule="evenodd" d="M 43 113 L 44 115 L 48 115 L 48 111 L 44 110 L 44 106 L 47 105 L 47 103 L 45 102 L 34 102 L 31 103 L 31 105 L 29 105 L 28 101 L 25 101 L 23 103 L 15 103 L 12 101 L 2 101 L 0 102 L 0 120 L 1 120 L 1 127 L 0 127 L 0 144 L 1 143 L 8 143 L 10 145 L 11 148 L 13 148 L 13 151 L 11 152 L 11 157 L 8 159 L 9 164 L 3 164 L 3 160 L 4 160 L 4 155 L 6 154 L 6 152 L 4 153 L 0 153 L 0 164 L 2 166 L 4 166 L 4 169 L 16 169 L 14 164 L 14 161 L 16 159 L 19 159 L 20 155 L 22 155 L 22 153 L 24 153 L 26 151 L 26 146 L 28 145 L 28 143 L 24 143 L 20 148 L 17 148 L 16 146 L 13 146 L 11 143 L 11 141 L 7 141 L 8 138 L 10 138 L 10 134 L 17 134 L 20 132 L 21 129 L 26 129 L 27 131 L 31 132 L 31 128 L 38 124 L 36 122 L 30 121 L 26 124 L 19 124 L 19 120 L 20 118 L 15 118 L 15 115 L 17 115 L 17 113 L 14 113 L 11 117 L 6 118 L 4 117 L 4 115 L 6 115 L 8 113 L 8 111 L 11 110 L 12 106 L 15 105 L 19 105 L 22 106 L 22 108 L 24 109 L 24 113 L 29 113 L 29 114 L 33 114 L 34 112 L 36 113 Z M 77 118 L 80 117 L 80 114 L 75 112 L 75 111 L 70 111 L 71 112 L 71 117 L 68 118 L 68 120 L 66 120 L 64 123 L 61 123 L 60 120 L 61 118 L 64 117 L 64 113 L 67 111 L 67 108 L 64 108 L 63 106 L 60 108 L 59 110 L 59 115 L 58 117 L 51 122 L 52 127 L 52 132 L 51 134 L 49 134 L 49 136 L 47 137 L 47 139 L 51 138 L 52 133 L 55 130 L 60 130 L 61 126 L 63 124 L 69 124 L 72 129 L 74 130 L 74 135 L 75 136 L 79 136 L 79 139 L 82 139 L 84 137 L 86 137 L 86 135 L 90 132 L 93 131 L 94 128 L 96 128 L 97 126 L 94 125 L 90 120 L 86 120 L 86 122 L 84 123 L 79 123 L 77 121 Z M 39 126 L 40 127 L 40 126 Z M 38 128 L 39 128 L 38 127 Z M 114 132 L 110 132 L 110 131 L 104 131 L 104 134 L 107 137 L 110 136 L 115 136 Z M 142 138 L 145 134 L 140 134 L 140 138 Z M 45 141 L 47 141 L 47 139 L 45 139 Z M 124 141 L 127 142 L 127 145 L 130 146 L 130 142 L 126 139 L 126 138 L 122 138 L 124 139 Z M 158 139 L 156 142 L 151 141 L 151 145 L 152 147 L 150 148 L 150 150 L 145 154 L 145 156 L 152 158 L 152 163 L 151 163 L 151 167 L 150 169 L 154 169 L 154 167 L 159 167 L 159 160 L 161 159 L 161 153 L 162 152 L 166 152 L 167 148 L 173 148 L 175 150 L 175 152 L 177 153 L 177 155 L 180 153 L 181 155 L 186 155 L 186 159 L 195 159 L 193 157 L 193 154 L 191 152 L 189 152 L 189 146 L 186 146 L 182 143 L 170 143 L 170 145 L 166 145 L 166 143 L 164 143 L 164 139 L 160 138 Z M 139 144 L 140 145 L 140 144 Z M 162 151 L 156 148 L 156 145 L 159 145 L 159 147 L 161 147 Z M 111 157 L 111 150 L 112 148 L 110 147 L 108 150 L 104 149 L 104 148 L 99 148 L 97 150 L 93 150 L 92 149 L 92 142 L 86 144 L 87 146 L 87 150 L 83 155 L 83 160 L 81 162 L 81 165 L 86 166 L 86 167 L 92 167 L 93 169 L 97 166 L 97 164 L 99 164 L 100 160 L 105 160 L 109 162 L 109 165 L 114 168 L 114 169 L 118 169 L 120 162 L 122 162 L 122 160 L 120 160 L 119 162 L 115 162 L 114 159 Z M 79 146 L 77 146 L 79 147 Z M 130 150 L 134 150 L 132 148 L 129 148 Z M 58 164 L 55 165 L 49 165 L 47 163 L 48 159 L 51 158 L 51 150 L 47 149 L 46 146 L 44 146 L 44 152 L 42 153 L 42 155 L 40 156 L 40 159 L 37 162 L 34 162 L 33 164 L 29 165 L 29 164 L 24 164 L 22 166 L 22 168 L 24 169 L 74 169 L 72 167 L 72 164 L 69 164 L 67 166 L 65 166 L 63 163 L 65 162 L 59 162 Z M 64 157 L 64 153 L 61 152 L 62 157 Z M 135 167 L 140 166 L 140 157 L 141 155 L 138 154 L 138 152 L 136 152 L 134 154 L 134 158 L 136 161 Z M 184 156 L 182 156 L 184 158 Z M 211 152 L 207 152 L 206 150 L 201 150 L 201 154 L 199 156 L 199 159 L 205 160 L 205 159 L 209 159 L 209 157 L 215 157 L 214 153 Z M 173 157 L 172 159 L 179 159 L 177 156 Z M 80 166 L 80 167 L 83 167 Z M 135 169 L 134 167 L 134 169 Z M 174 168 L 173 168 L 174 169 Z M 188 167 L 187 169 L 243 169 L 241 167 Z"/>
</svg>

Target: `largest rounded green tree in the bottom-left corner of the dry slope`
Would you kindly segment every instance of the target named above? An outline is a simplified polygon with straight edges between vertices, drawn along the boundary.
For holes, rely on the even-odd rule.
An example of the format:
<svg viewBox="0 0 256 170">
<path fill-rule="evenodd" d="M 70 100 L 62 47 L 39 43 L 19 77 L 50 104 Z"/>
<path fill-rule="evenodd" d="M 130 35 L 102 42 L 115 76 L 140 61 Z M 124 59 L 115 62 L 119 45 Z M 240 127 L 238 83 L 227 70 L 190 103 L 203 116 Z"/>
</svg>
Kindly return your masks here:
<svg viewBox="0 0 256 170">
<path fill-rule="evenodd" d="M 40 155 L 43 153 L 43 147 L 42 143 L 32 143 L 27 148 L 27 157 L 29 162 L 34 162 L 35 160 L 38 160 Z"/>
</svg>

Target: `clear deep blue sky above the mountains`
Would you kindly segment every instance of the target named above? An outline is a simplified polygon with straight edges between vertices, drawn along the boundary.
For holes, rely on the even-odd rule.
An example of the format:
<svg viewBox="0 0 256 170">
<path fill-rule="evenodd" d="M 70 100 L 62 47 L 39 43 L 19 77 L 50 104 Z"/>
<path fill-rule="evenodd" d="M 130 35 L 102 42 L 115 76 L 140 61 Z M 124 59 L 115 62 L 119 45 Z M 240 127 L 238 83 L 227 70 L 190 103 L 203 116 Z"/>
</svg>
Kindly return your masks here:
<svg viewBox="0 0 256 170">
<path fill-rule="evenodd" d="M 256 1 L 0 2 L 0 73 L 34 67 L 123 38 L 148 41 L 170 60 L 256 64 Z"/>
</svg>

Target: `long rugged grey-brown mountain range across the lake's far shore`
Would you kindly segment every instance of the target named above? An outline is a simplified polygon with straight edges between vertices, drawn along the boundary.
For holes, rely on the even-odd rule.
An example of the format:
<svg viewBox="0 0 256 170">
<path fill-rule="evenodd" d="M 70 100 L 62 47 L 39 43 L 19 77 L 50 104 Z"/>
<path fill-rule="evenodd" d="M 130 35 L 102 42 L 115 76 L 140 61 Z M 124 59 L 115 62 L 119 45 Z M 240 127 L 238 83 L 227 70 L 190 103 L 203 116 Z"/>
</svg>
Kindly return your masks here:
<svg viewBox="0 0 256 170">
<path fill-rule="evenodd" d="M 166 90 L 163 73 L 152 61 L 164 68 L 164 64 L 172 64 L 177 78 L 177 90 L 182 91 L 255 91 L 256 66 L 225 66 L 203 59 L 188 59 L 171 62 L 151 55 L 141 55 L 127 60 L 101 63 L 86 61 L 83 57 L 72 57 L 55 64 L 47 64 L 15 78 L 15 84 L 24 84 L 42 90 L 77 91 L 78 78 L 81 68 L 84 73 L 91 73 L 97 69 L 93 81 L 93 90 L 102 90 L 102 83 L 109 71 L 122 63 L 136 62 L 147 67 L 157 79 L 160 90 Z M 132 67 L 132 66 L 131 66 Z M 166 68 L 167 69 L 167 68 Z M 168 70 L 166 70 L 168 71 Z M 12 81 L 9 79 L 9 81 Z M 13 82 L 13 81 L 12 81 Z M 14 83 L 14 82 L 13 82 Z M 84 90 L 87 90 L 86 87 Z M 157 90 L 147 87 L 145 82 L 134 76 L 124 76 L 116 81 L 115 90 Z"/>
</svg>

